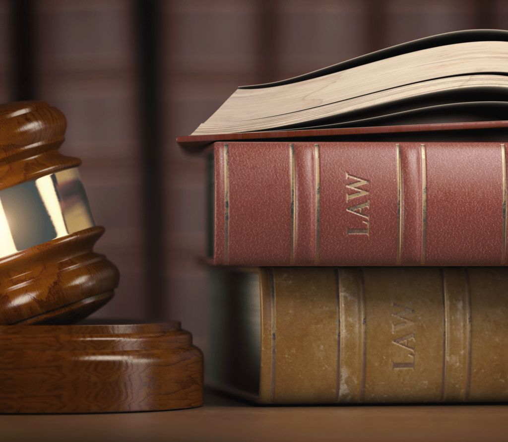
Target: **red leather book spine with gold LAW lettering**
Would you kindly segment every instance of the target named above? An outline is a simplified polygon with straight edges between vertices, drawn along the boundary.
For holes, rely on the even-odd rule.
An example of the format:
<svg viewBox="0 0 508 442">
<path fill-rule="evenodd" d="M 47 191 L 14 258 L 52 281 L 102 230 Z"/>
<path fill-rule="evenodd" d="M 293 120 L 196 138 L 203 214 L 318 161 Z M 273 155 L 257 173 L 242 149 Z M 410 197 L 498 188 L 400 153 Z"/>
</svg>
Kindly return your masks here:
<svg viewBox="0 0 508 442">
<path fill-rule="evenodd" d="M 217 265 L 506 264 L 502 143 L 215 143 Z"/>
</svg>

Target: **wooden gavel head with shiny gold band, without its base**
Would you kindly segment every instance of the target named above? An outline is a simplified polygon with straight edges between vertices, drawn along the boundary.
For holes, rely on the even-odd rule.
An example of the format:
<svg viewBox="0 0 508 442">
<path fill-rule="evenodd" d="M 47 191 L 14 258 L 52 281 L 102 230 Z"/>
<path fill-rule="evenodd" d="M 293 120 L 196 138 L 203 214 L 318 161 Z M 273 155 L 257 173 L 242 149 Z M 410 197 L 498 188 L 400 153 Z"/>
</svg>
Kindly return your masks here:
<svg viewBox="0 0 508 442">
<path fill-rule="evenodd" d="M 96 226 L 58 147 L 65 116 L 44 102 L 0 105 L 0 325 L 72 324 L 113 296 L 118 269 L 92 251 Z"/>
</svg>

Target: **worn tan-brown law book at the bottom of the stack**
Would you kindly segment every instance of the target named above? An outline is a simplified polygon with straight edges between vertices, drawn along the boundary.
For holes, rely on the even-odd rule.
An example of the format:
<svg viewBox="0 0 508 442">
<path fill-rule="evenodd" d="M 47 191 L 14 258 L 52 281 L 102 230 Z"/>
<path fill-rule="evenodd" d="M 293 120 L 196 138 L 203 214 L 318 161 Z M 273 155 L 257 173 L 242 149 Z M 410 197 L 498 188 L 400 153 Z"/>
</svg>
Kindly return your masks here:
<svg viewBox="0 0 508 442">
<path fill-rule="evenodd" d="M 508 401 L 506 267 L 214 267 L 205 382 L 263 404 Z"/>
</svg>

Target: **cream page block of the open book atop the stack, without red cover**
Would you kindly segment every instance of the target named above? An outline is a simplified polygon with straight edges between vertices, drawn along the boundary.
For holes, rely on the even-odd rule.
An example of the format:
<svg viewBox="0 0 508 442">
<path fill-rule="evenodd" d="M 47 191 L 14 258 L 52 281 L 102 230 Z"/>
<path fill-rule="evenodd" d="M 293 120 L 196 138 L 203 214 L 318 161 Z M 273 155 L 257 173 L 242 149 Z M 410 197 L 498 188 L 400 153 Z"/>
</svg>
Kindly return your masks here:
<svg viewBox="0 0 508 442">
<path fill-rule="evenodd" d="M 508 119 L 508 31 L 466 30 L 241 86 L 192 135 Z"/>
</svg>

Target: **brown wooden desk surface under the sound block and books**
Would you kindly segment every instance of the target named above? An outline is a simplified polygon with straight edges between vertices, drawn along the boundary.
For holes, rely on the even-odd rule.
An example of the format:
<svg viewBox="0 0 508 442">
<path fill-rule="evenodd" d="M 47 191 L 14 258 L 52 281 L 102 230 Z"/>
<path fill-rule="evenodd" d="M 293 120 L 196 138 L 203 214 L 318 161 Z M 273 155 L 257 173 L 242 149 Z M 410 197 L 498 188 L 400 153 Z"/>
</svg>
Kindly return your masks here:
<svg viewBox="0 0 508 442">
<path fill-rule="evenodd" d="M 0 440 L 506 441 L 508 405 L 264 407 L 207 392 L 169 412 L 0 415 Z"/>
</svg>

